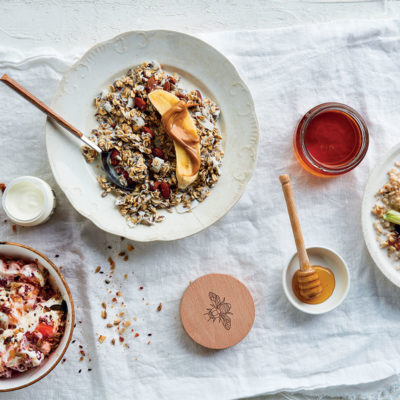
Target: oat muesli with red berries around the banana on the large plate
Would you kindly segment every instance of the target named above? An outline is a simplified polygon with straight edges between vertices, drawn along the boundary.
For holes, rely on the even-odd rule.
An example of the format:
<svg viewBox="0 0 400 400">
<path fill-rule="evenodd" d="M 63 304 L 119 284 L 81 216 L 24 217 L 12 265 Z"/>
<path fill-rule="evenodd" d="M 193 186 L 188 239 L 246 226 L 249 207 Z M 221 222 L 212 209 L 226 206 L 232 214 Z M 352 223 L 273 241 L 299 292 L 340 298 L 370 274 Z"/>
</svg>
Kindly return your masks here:
<svg viewBox="0 0 400 400">
<path fill-rule="evenodd" d="M 158 214 L 160 209 L 171 211 L 178 206 L 178 212 L 190 211 L 207 198 L 221 174 L 224 152 L 216 127 L 220 109 L 199 90 L 179 87 L 179 80 L 177 74 L 168 75 L 160 65 L 145 62 L 130 69 L 94 100 L 99 126 L 90 139 L 103 151 L 112 151 L 111 163 L 122 185 L 136 184 L 135 190 L 128 192 L 99 176 L 102 196 L 111 192 L 116 195 L 115 205 L 132 227 L 161 222 L 164 216 Z M 201 166 L 196 181 L 184 190 L 177 186 L 173 141 L 164 132 L 161 117 L 148 98 L 155 89 L 198 104 L 189 112 L 200 136 Z M 97 156 L 87 146 L 82 153 L 88 162 Z"/>
</svg>

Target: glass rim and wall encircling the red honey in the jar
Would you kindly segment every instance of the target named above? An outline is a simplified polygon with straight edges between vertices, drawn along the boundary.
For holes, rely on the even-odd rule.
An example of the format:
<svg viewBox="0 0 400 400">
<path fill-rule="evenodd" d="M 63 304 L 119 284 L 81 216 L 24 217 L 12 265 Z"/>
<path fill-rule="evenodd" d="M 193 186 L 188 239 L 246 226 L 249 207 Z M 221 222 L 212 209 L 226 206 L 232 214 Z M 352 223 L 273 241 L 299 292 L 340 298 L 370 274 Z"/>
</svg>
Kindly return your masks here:
<svg viewBox="0 0 400 400">
<path fill-rule="evenodd" d="M 307 147 L 305 146 L 304 138 L 307 132 L 307 128 L 310 124 L 310 122 L 319 114 L 326 112 L 326 111 L 341 111 L 344 114 L 348 115 L 351 117 L 354 122 L 357 124 L 358 128 L 360 129 L 361 132 L 361 146 L 359 151 L 357 152 L 356 156 L 350 160 L 347 164 L 341 165 L 340 167 L 328 167 L 326 164 L 318 162 L 308 151 Z M 319 171 L 322 171 L 327 174 L 332 174 L 332 175 L 341 175 L 346 172 L 349 172 L 353 168 L 355 168 L 358 164 L 361 163 L 361 161 L 364 159 L 368 146 L 369 146 L 369 133 L 368 133 L 368 128 L 361 117 L 361 115 L 354 110 L 352 107 L 347 106 L 346 104 L 342 103 L 336 103 L 336 102 L 329 102 L 329 103 L 322 103 L 318 106 L 313 107 L 311 110 L 309 110 L 303 117 L 303 123 L 300 129 L 300 145 L 301 145 L 301 150 L 304 154 L 304 157 L 306 158 L 307 162 L 316 168 Z"/>
</svg>

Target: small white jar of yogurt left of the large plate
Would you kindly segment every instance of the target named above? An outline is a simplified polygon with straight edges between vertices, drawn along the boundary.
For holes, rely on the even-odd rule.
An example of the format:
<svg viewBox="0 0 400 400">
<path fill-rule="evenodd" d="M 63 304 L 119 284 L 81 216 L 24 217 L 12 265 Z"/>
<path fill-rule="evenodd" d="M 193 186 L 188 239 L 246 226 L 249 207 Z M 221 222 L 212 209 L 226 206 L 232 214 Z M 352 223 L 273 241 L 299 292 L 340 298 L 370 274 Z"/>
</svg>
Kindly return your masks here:
<svg viewBox="0 0 400 400">
<path fill-rule="evenodd" d="M 50 186 L 34 176 L 14 179 L 3 194 L 3 208 L 12 222 L 23 226 L 47 221 L 55 208 Z"/>
</svg>

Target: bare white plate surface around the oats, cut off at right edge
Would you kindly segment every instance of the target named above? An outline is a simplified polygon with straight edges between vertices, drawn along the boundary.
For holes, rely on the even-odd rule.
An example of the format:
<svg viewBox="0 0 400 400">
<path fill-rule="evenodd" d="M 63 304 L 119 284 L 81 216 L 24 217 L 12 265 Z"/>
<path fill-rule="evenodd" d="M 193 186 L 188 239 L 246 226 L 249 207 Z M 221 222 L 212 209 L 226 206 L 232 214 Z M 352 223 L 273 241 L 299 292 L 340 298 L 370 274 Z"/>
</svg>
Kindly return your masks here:
<svg viewBox="0 0 400 400">
<path fill-rule="evenodd" d="M 362 201 L 361 223 L 365 243 L 375 264 L 386 278 L 400 287 L 400 271 L 395 269 L 395 266 L 400 264 L 387 256 L 386 249 L 380 248 L 379 243 L 376 241 L 376 231 L 373 227 L 375 218 L 371 214 L 372 207 L 376 201 L 375 193 L 387 182 L 388 176 L 386 174 L 390 169 L 394 168 L 396 161 L 400 161 L 400 144 L 393 147 L 385 155 L 383 161 L 373 169 L 368 179 Z"/>
</svg>

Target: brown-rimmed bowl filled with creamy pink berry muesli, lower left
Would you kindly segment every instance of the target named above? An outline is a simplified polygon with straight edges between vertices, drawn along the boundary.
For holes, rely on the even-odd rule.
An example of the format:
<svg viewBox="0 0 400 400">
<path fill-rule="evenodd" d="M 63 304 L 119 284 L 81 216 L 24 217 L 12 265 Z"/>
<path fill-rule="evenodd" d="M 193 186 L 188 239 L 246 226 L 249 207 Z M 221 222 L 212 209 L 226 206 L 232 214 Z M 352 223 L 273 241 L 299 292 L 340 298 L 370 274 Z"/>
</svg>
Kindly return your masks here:
<svg viewBox="0 0 400 400">
<path fill-rule="evenodd" d="M 46 376 L 67 350 L 73 326 L 59 269 L 37 250 L 0 242 L 0 392 Z"/>
</svg>

